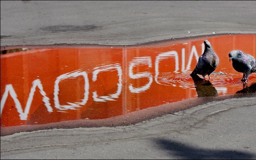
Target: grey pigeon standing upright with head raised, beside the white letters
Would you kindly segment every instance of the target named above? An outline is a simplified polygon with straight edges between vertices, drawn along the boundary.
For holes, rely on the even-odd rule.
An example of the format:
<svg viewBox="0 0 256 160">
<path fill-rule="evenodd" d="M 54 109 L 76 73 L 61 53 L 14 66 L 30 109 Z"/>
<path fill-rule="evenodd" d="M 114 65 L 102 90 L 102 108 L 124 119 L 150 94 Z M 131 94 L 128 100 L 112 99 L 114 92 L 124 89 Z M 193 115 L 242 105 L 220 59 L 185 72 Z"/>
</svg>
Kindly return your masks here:
<svg viewBox="0 0 256 160">
<path fill-rule="evenodd" d="M 208 40 L 204 40 L 204 46 L 204 53 L 199 57 L 196 67 L 190 75 L 202 75 L 204 77 L 204 80 L 205 76 L 208 75 L 210 80 L 210 74 L 216 69 L 219 64 L 219 57 L 213 51 L 212 45 Z"/>
</svg>

